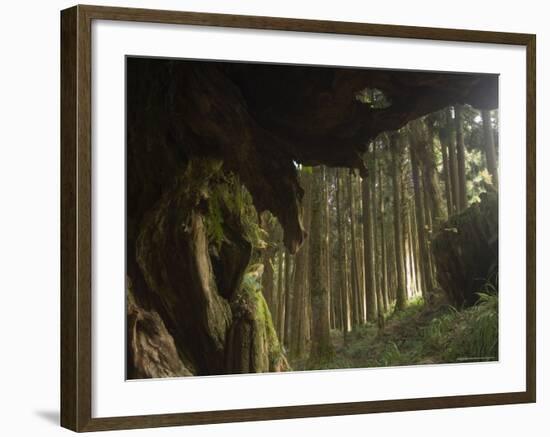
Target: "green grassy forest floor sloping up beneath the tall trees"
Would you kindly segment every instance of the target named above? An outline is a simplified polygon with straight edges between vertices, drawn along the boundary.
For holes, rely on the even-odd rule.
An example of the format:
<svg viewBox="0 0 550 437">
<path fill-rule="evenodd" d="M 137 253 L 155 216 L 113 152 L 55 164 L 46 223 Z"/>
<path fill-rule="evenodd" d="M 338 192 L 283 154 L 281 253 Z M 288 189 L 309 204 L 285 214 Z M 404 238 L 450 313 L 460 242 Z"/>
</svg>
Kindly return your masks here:
<svg viewBox="0 0 550 437">
<path fill-rule="evenodd" d="M 498 360 L 498 297 L 481 294 L 479 303 L 458 311 L 429 306 L 422 299 L 393 312 L 379 329 L 368 323 L 349 332 L 331 331 L 332 360 L 309 369 L 342 369 Z M 306 370 L 292 363 L 294 370 Z"/>
</svg>

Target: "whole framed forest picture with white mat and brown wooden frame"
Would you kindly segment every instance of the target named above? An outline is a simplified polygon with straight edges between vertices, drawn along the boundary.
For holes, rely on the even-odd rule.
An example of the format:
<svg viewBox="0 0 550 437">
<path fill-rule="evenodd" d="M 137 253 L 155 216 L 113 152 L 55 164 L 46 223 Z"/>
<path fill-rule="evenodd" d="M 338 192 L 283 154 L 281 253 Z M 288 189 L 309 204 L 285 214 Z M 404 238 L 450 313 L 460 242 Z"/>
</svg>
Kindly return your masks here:
<svg viewBox="0 0 550 437">
<path fill-rule="evenodd" d="M 61 12 L 61 424 L 535 402 L 535 35 Z"/>
</svg>

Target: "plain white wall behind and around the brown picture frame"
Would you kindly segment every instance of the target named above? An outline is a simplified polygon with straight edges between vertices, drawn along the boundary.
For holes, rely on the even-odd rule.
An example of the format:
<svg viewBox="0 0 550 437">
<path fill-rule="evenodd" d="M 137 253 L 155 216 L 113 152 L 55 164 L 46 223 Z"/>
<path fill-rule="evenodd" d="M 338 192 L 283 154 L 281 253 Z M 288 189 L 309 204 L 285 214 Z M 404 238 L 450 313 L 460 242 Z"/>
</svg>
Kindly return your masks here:
<svg viewBox="0 0 550 437">
<path fill-rule="evenodd" d="M 535 405 L 390 413 L 338 418 L 125 431 L 125 435 L 240 436 L 547 435 L 549 363 L 543 339 L 548 305 L 543 296 L 542 169 L 550 38 L 545 2 L 457 0 L 359 2 L 95 1 L 203 12 L 271 15 L 372 23 L 457 27 L 537 34 L 538 45 L 538 400 Z M 59 10 L 73 3 L 10 2 L 0 16 L 0 433 L 68 435 L 58 427 L 59 404 Z M 548 115 L 547 115 L 548 117 Z M 550 162 L 547 162 L 550 165 Z M 546 217 L 545 217 L 546 216 Z M 545 244 L 547 243 L 547 244 Z M 258 394 L 259 396 L 261 394 Z M 122 434 L 118 432 L 116 434 Z"/>
</svg>

